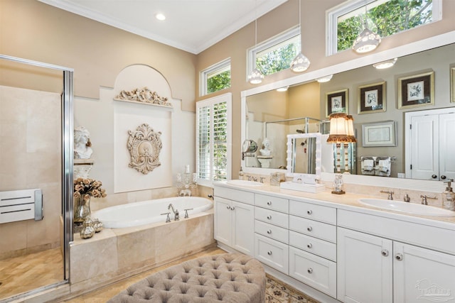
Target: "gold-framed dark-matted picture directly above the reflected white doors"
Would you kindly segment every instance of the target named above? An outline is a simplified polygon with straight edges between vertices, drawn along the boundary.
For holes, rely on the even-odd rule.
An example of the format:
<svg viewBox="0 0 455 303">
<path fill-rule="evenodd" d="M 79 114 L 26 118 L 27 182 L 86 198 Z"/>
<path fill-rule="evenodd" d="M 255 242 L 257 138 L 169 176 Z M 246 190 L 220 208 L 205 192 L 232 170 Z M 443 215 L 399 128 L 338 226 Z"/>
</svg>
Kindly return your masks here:
<svg viewBox="0 0 455 303">
<path fill-rule="evenodd" d="M 398 79 L 398 109 L 434 104 L 434 72 Z"/>
</svg>

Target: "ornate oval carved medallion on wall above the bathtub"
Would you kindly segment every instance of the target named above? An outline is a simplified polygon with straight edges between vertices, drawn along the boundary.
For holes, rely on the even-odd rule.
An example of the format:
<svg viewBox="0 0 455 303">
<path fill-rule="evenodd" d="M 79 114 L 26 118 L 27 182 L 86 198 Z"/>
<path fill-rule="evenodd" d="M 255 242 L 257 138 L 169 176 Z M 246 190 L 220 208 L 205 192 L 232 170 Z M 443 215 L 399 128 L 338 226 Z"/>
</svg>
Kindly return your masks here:
<svg viewBox="0 0 455 303">
<path fill-rule="evenodd" d="M 127 148 L 129 151 L 129 167 L 147 175 L 159 167 L 159 153 L 163 148 L 161 143 L 161 131 L 155 132 L 149 124 L 143 123 L 136 131 L 128 131 L 129 138 Z"/>
</svg>

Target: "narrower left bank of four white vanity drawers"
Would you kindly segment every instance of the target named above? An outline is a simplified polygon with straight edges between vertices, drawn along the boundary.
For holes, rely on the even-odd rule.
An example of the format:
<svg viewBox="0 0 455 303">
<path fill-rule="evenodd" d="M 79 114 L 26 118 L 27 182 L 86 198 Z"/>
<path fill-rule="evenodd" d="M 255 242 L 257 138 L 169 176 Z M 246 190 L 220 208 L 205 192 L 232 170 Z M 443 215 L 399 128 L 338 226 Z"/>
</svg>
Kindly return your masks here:
<svg viewBox="0 0 455 303">
<path fill-rule="evenodd" d="M 288 274 L 289 200 L 255 194 L 255 258 Z"/>
</svg>

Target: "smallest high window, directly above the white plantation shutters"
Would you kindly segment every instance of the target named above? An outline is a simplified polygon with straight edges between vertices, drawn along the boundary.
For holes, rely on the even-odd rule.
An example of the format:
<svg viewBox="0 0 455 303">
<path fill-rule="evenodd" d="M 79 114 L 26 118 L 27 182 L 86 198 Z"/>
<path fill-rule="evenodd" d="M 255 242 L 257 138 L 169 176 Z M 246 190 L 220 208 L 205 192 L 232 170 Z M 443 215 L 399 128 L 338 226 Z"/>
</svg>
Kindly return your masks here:
<svg viewBox="0 0 455 303">
<path fill-rule="evenodd" d="M 201 96 L 230 87 L 230 59 L 218 62 L 200 72 Z"/>
</svg>

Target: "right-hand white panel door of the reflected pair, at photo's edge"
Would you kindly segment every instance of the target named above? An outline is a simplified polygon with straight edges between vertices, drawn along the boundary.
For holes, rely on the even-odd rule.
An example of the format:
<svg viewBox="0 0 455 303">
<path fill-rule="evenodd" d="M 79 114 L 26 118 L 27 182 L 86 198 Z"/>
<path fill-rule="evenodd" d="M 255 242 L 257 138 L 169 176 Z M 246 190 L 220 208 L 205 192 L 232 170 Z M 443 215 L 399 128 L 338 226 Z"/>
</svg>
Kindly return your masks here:
<svg viewBox="0 0 455 303">
<path fill-rule="evenodd" d="M 439 179 L 455 179 L 455 112 L 439 115 Z"/>
</svg>

